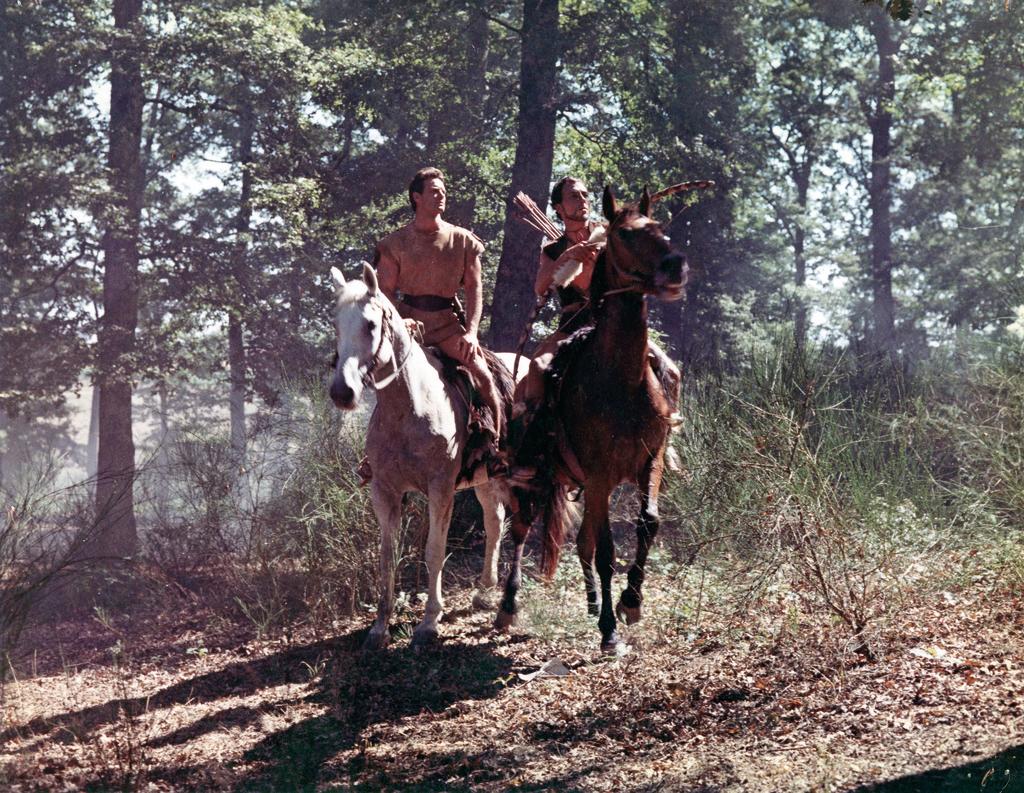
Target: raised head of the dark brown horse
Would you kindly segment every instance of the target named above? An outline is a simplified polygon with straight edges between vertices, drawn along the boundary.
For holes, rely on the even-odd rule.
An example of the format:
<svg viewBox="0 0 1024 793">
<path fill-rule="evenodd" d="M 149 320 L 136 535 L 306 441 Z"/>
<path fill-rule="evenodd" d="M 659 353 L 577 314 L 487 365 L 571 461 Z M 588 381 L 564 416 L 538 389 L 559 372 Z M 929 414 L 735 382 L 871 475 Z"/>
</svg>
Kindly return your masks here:
<svg viewBox="0 0 1024 793">
<path fill-rule="evenodd" d="M 620 204 L 604 189 L 602 208 L 608 219 L 605 260 L 610 290 L 636 291 L 663 300 L 683 296 L 688 276 L 686 257 L 675 250 L 659 223 L 651 220 L 647 187 L 636 204 Z"/>
</svg>

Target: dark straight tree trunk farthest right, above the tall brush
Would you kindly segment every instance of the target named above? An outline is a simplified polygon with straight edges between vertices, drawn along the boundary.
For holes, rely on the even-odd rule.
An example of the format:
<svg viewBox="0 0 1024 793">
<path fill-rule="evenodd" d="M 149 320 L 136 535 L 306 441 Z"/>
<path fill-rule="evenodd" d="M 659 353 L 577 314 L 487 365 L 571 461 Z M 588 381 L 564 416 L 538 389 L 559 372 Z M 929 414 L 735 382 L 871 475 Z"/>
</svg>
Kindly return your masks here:
<svg viewBox="0 0 1024 793">
<path fill-rule="evenodd" d="M 871 131 L 871 176 L 868 185 L 870 225 L 871 347 L 895 362 L 896 309 L 893 302 L 892 261 L 892 123 L 896 97 L 894 57 L 896 40 L 888 14 L 871 17 L 871 33 L 879 51 L 879 83 L 868 117 Z"/>
</svg>

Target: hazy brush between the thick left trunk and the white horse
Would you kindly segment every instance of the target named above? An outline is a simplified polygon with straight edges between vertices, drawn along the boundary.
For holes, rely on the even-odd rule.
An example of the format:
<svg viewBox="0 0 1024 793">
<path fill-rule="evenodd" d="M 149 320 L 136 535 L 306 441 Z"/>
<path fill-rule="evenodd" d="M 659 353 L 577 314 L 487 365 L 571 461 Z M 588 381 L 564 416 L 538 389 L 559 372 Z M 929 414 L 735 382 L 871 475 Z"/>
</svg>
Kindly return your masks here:
<svg viewBox="0 0 1024 793">
<path fill-rule="evenodd" d="M 355 474 L 366 413 L 337 411 L 315 378 L 283 406 L 251 422 L 243 470 L 225 434 L 194 428 L 146 486 L 164 494 L 150 502 L 151 557 L 185 582 L 217 567 L 259 633 L 330 627 L 378 594 L 380 531 Z"/>
</svg>

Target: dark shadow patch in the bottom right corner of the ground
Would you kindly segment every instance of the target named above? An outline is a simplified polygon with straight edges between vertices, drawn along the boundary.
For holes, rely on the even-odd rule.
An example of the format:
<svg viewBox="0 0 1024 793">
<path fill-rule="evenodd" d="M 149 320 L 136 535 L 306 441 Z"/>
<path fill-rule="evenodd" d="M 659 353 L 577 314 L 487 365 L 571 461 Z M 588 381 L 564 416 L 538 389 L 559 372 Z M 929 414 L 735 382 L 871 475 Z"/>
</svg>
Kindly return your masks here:
<svg viewBox="0 0 1024 793">
<path fill-rule="evenodd" d="M 1024 746 L 984 760 L 866 785 L 852 793 L 1024 793 Z"/>
</svg>

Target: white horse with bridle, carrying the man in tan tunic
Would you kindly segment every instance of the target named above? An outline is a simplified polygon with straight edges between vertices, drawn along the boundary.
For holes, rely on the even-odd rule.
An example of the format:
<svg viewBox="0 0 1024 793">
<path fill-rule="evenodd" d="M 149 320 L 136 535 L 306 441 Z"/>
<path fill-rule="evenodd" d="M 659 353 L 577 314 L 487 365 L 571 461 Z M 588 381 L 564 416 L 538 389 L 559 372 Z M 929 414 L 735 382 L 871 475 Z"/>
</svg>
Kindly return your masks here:
<svg viewBox="0 0 1024 793">
<path fill-rule="evenodd" d="M 377 619 L 365 646 L 387 644 L 388 621 L 394 609 L 394 575 L 404 493 L 419 491 L 430 504 L 430 530 L 425 552 L 428 574 L 427 609 L 413 632 L 413 645 L 437 639 L 437 622 L 444 609 L 441 568 L 447 543 L 452 506 L 467 439 L 467 407 L 456 386 L 441 375 L 436 356 L 421 347 L 406 330 L 397 309 L 377 284 L 377 274 L 362 266 L 362 281 L 345 281 L 331 268 L 337 294 L 335 328 L 338 360 L 331 399 L 352 410 L 364 387 L 377 390 L 377 407 L 367 430 L 367 456 L 373 469 L 371 497 L 381 527 L 380 586 Z M 488 594 L 498 584 L 498 556 L 505 528 L 508 489 L 488 481 L 484 466 L 472 483 L 483 507 L 486 544 L 483 572 L 473 604 L 492 608 Z"/>
</svg>

